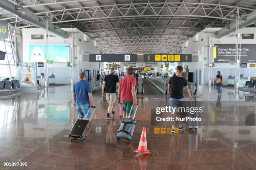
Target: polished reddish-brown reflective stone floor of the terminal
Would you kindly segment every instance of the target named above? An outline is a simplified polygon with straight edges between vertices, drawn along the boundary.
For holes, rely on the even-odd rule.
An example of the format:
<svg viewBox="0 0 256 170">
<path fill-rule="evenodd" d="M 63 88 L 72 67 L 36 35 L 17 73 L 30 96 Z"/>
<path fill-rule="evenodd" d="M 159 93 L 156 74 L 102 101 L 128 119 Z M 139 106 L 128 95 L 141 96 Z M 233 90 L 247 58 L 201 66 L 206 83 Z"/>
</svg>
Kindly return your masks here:
<svg viewBox="0 0 256 170">
<path fill-rule="evenodd" d="M 204 87 L 204 95 L 195 99 L 213 103 L 207 106 L 212 122 L 199 124 L 197 132 L 185 125 L 183 132 L 175 134 L 169 132 L 170 125 L 151 126 L 151 109 L 167 104 L 166 98 L 138 98 L 131 143 L 116 140 L 119 106 L 115 105 L 115 119 L 105 120 L 108 105 L 99 95 L 94 99 L 97 110 L 85 142 L 70 141 L 68 134 L 77 118 L 71 97 L 69 87 L 61 86 L 51 88 L 48 98 L 44 91 L 0 98 L 1 170 L 256 169 L 256 126 L 239 125 L 249 113 L 255 113 L 255 96 L 250 94 L 235 96 L 233 90 L 223 89 L 223 95 L 218 96 L 214 89 L 209 93 Z M 232 103 L 243 103 L 240 112 L 230 106 Z M 146 158 L 134 154 L 143 127 L 151 151 Z M 15 161 L 28 166 L 3 167 L 4 162 Z"/>
</svg>

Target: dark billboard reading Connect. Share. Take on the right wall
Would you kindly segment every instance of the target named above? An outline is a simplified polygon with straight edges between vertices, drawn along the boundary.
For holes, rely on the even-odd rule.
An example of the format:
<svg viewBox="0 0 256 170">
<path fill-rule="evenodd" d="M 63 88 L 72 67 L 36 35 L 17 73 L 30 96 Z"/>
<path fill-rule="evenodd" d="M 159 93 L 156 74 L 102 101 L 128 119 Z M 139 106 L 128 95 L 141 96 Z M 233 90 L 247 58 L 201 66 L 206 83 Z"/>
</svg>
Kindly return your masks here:
<svg viewBox="0 0 256 170">
<path fill-rule="evenodd" d="M 213 50 L 214 62 L 235 62 L 236 44 L 215 44 Z M 241 62 L 256 62 L 256 44 L 238 45 L 238 57 L 241 54 Z"/>
</svg>

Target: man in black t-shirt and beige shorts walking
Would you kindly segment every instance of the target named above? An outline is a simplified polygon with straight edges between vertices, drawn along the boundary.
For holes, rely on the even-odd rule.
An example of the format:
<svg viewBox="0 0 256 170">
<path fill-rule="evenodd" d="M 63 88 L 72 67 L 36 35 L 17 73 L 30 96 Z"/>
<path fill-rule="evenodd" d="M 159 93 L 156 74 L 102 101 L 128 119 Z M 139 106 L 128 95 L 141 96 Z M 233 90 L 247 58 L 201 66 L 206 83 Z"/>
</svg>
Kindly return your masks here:
<svg viewBox="0 0 256 170">
<path fill-rule="evenodd" d="M 115 68 L 112 67 L 110 71 L 111 73 L 109 75 L 106 75 L 105 80 L 103 81 L 101 91 L 101 95 L 104 96 L 104 88 L 106 87 L 107 101 L 109 104 L 107 120 L 111 119 L 110 112 L 112 112 L 113 116 L 115 115 L 114 103 L 116 99 L 116 87 L 119 86 L 119 78 L 117 75 L 115 75 Z"/>
</svg>

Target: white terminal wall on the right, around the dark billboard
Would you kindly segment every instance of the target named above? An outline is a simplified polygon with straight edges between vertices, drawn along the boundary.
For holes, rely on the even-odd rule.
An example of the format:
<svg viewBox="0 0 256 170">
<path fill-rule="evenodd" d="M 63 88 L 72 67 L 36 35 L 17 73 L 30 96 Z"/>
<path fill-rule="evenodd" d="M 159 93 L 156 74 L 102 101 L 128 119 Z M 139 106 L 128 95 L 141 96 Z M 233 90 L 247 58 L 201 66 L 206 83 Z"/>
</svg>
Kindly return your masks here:
<svg viewBox="0 0 256 170">
<path fill-rule="evenodd" d="M 228 35 L 225 35 L 224 37 L 220 39 L 216 39 L 214 37 L 214 31 L 220 30 L 221 28 L 210 28 L 210 40 L 211 45 L 215 44 L 235 44 L 236 42 L 236 36 L 228 37 Z M 196 82 L 196 70 L 202 70 L 203 65 L 203 71 L 204 71 L 204 77 L 201 77 L 201 80 L 204 80 L 204 84 L 208 84 L 208 80 L 216 77 L 216 72 L 220 71 L 224 78 L 224 85 L 228 84 L 228 76 L 231 74 L 234 75 L 235 65 L 230 65 L 230 63 L 217 63 L 215 62 L 215 67 L 212 67 L 211 69 L 211 75 L 210 78 L 208 77 L 208 59 L 209 59 L 209 28 L 206 28 L 205 30 L 199 32 L 197 35 L 189 39 L 188 41 L 184 42 L 182 44 L 182 53 L 191 53 L 192 57 L 198 57 L 198 62 L 184 62 L 182 63 L 182 66 L 188 65 L 189 72 L 194 72 L 193 81 Z M 254 39 L 253 40 L 241 40 L 241 44 L 256 44 L 255 36 L 256 36 L 256 29 L 255 28 L 242 28 L 241 33 L 254 33 Z M 236 35 L 236 32 L 232 32 L 229 35 Z M 212 56 L 212 54 L 211 54 Z M 207 58 L 207 60 L 204 60 L 204 57 Z M 249 75 L 249 69 L 250 69 L 250 75 Z M 243 74 L 243 77 L 256 77 L 256 68 L 240 68 L 241 73 Z"/>
</svg>

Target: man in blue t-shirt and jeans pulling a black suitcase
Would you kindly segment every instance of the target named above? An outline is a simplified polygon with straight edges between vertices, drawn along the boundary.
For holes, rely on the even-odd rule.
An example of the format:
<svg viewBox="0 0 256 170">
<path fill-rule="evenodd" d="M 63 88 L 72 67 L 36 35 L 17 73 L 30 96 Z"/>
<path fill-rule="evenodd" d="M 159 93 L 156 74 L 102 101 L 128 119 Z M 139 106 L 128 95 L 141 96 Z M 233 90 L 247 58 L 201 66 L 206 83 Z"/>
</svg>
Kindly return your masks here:
<svg viewBox="0 0 256 170">
<path fill-rule="evenodd" d="M 92 107 L 93 97 L 92 97 L 92 89 L 89 82 L 87 82 L 85 72 L 80 72 L 80 80 L 74 84 L 73 88 L 73 99 L 74 105 L 77 106 L 78 118 L 83 119 L 87 114 L 89 107 Z M 92 109 L 90 109 L 86 120 L 89 120 L 92 116 Z"/>
</svg>

